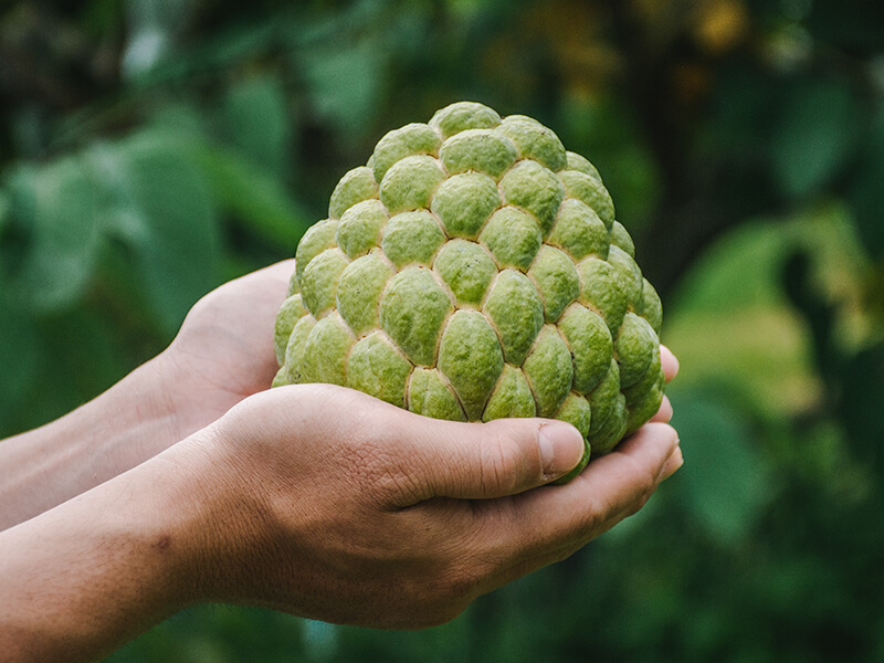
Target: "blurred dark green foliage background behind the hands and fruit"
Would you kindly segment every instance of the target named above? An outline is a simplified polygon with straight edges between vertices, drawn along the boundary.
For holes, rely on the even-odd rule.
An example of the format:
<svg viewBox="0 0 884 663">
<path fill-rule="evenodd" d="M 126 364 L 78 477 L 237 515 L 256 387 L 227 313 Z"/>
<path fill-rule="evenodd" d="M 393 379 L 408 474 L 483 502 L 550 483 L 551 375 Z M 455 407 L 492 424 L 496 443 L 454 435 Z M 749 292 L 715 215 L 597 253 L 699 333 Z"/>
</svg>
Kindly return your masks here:
<svg viewBox="0 0 884 663">
<path fill-rule="evenodd" d="M 161 350 L 461 98 L 599 167 L 682 359 L 684 469 L 448 625 L 204 607 L 110 661 L 884 660 L 881 2 L 4 3 L 0 434 Z"/>
</svg>

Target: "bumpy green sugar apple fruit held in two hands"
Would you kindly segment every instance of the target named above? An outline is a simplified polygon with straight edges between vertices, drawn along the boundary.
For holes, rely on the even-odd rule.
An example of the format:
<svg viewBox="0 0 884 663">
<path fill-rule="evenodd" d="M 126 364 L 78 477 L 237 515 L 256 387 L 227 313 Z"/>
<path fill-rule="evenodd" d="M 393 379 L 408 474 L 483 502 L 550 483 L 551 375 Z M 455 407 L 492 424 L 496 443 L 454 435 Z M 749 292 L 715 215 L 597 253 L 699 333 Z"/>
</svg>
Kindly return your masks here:
<svg viewBox="0 0 884 663">
<path fill-rule="evenodd" d="M 274 386 L 460 421 L 548 417 L 603 454 L 659 409 L 660 298 L 596 168 L 461 102 L 387 134 L 295 255 Z"/>
</svg>

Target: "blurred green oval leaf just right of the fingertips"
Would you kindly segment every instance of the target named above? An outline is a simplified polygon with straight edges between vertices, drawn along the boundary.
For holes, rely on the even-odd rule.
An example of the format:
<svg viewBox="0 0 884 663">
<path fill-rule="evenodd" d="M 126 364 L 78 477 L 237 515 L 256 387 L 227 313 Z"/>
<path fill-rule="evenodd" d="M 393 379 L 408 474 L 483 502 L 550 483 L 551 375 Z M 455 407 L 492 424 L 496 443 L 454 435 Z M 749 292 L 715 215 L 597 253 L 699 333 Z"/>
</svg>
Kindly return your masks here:
<svg viewBox="0 0 884 663">
<path fill-rule="evenodd" d="M 673 425 L 685 464 L 678 472 L 688 509 L 711 537 L 733 545 L 746 537 L 769 494 L 762 457 L 746 421 L 709 390 L 674 392 Z"/>
</svg>

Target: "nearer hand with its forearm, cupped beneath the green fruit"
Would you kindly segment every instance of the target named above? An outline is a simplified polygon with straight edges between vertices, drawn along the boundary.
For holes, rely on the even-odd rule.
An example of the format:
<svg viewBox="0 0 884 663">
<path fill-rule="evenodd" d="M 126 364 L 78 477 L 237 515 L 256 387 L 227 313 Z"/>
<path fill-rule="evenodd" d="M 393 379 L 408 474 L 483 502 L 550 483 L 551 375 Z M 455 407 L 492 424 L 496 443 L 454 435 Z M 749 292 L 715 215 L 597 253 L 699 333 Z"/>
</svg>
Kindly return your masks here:
<svg viewBox="0 0 884 663">
<path fill-rule="evenodd" d="M 671 378 L 677 362 L 664 350 Z M 328 385 L 217 423 L 0 532 L 0 649 L 95 660 L 196 602 L 420 628 L 564 559 L 682 464 L 653 421 L 570 483 L 570 424 L 431 420 Z"/>
</svg>

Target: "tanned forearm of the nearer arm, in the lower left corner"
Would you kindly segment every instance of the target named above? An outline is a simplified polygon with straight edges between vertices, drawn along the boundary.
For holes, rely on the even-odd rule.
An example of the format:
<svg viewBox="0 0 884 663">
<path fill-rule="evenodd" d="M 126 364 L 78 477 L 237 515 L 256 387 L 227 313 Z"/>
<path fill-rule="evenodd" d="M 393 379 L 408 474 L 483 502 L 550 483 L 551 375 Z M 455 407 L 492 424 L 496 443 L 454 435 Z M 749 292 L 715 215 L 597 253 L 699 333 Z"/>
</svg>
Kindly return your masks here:
<svg viewBox="0 0 884 663">
<path fill-rule="evenodd" d="M 4 660 L 97 660 L 196 599 L 210 506 L 192 455 L 176 449 L 0 533 Z"/>
</svg>

